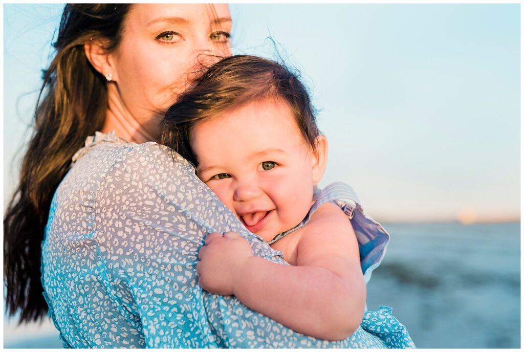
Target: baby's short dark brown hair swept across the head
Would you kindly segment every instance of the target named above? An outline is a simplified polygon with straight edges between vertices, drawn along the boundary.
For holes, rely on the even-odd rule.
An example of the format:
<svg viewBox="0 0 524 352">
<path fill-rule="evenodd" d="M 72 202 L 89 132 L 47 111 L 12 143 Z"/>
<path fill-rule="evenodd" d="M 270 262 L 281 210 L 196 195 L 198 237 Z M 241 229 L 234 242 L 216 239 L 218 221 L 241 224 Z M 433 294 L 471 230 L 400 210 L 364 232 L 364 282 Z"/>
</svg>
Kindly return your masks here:
<svg viewBox="0 0 524 352">
<path fill-rule="evenodd" d="M 285 65 L 250 55 L 220 60 L 192 89 L 182 93 L 160 122 L 160 143 L 198 166 L 189 139 L 196 123 L 267 98 L 280 98 L 289 104 L 302 136 L 316 151 L 320 130 L 308 91 L 298 75 Z"/>
</svg>

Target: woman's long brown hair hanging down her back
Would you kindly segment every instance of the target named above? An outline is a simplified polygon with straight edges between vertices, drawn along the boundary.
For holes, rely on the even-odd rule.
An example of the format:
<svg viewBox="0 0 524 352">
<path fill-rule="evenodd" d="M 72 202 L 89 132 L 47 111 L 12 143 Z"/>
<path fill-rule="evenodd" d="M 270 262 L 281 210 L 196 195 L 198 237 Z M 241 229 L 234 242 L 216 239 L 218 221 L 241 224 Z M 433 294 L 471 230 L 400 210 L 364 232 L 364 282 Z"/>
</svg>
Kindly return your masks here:
<svg viewBox="0 0 524 352">
<path fill-rule="evenodd" d="M 4 217 L 6 312 L 20 322 L 47 313 L 40 281 L 41 241 L 51 199 L 85 139 L 100 130 L 107 109 L 105 78 L 85 56 L 84 43 L 103 40 L 114 50 L 129 4 L 68 4 L 62 13 L 56 56 L 43 73 L 35 130 L 20 182 Z"/>
</svg>

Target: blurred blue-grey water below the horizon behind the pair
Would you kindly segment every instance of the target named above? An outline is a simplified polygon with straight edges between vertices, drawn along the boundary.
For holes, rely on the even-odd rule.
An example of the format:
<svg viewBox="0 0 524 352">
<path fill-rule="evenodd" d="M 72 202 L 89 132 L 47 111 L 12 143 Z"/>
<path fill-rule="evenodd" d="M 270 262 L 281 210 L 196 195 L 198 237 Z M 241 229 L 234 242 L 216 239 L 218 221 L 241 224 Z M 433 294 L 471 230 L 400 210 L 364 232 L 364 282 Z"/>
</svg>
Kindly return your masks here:
<svg viewBox="0 0 524 352">
<path fill-rule="evenodd" d="M 383 224 L 386 256 L 368 283 L 419 348 L 520 348 L 520 224 Z M 60 348 L 50 321 L 4 320 L 5 348 Z"/>
</svg>

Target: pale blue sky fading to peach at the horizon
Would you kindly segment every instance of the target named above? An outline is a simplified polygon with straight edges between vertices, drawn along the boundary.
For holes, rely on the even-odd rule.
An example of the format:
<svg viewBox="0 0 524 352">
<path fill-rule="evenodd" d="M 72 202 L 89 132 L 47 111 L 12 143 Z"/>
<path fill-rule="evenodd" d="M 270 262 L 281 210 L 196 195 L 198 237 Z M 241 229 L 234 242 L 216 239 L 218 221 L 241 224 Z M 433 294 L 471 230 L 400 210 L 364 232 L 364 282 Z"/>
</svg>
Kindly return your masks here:
<svg viewBox="0 0 524 352">
<path fill-rule="evenodd" d="M 63 5 L 3 6 L 5 204 Z M 320 186 L 350 184 L 378 221 L 520 219 L 519 4 L 230 9 L 234 53 L 284 58 L 310 88 Z"/>
</svg>

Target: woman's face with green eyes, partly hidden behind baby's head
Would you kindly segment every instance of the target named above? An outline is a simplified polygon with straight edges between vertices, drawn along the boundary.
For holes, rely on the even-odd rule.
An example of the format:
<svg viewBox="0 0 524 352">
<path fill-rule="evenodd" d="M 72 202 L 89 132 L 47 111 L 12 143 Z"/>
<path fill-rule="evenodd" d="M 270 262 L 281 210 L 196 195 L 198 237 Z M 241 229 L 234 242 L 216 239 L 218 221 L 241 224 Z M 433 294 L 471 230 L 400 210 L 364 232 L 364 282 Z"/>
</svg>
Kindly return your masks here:
<svg viewBox="0 0 524 352">
<path fill-rule="evenodd" d="M 117 100 L 145 128 L 198 76 L 196 70 L 231 55 L 231 16 L 226 4 L 135 4 L 111 54 Z M 157 117 L 157 118 L 155 118 Z"/>
</svg>

